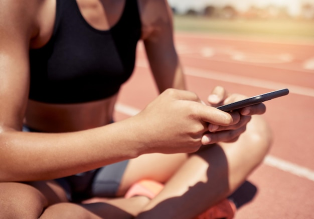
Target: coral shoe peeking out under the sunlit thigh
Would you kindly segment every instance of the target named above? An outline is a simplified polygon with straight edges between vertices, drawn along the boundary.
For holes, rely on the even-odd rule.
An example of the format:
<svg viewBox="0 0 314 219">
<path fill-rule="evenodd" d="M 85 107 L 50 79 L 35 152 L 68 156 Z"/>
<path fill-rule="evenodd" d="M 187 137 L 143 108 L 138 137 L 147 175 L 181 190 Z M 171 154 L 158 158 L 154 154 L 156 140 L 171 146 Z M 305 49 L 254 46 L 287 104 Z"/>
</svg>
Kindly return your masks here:
<svg viewBox="0 0 314 219">
<path fill-rule="evenodd" d="M 137 195 L 146 196 L 150 199 L 154 198 L 162 189 L 164 188 L 164 184 L 149 180 L 142 179 L 136 183 L 134 183 L 125 193 L 124 197 L 129 198 Z"/>
</svg>

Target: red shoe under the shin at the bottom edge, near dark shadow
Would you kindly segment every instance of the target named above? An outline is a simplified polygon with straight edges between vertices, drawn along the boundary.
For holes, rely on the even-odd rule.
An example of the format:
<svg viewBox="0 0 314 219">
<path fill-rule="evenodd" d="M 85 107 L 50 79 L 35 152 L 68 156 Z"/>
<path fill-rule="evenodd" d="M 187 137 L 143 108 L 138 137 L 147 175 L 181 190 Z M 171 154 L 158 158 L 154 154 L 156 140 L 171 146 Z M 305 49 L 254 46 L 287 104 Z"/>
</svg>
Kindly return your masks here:
<svg viewBox="0 0 314 219">
<path fill-rule="evenodd" d="M 232 219 L 235 215 L 236 205 L 229 199 L 224 199 L 218 204 L 212 206 L 204 213 L 197 216 L 195 219 Z"/>
</svg>

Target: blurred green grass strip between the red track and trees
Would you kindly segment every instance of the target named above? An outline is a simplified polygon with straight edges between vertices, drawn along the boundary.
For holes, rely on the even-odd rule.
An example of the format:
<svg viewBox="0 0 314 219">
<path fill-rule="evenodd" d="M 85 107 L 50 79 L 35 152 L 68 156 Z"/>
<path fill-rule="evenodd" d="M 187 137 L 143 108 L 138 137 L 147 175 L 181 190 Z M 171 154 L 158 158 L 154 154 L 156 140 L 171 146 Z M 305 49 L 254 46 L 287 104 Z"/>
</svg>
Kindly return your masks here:
<svg viewBox="0 0 314 219">
<path fill-rule="evenodd" d="M 314 43 L 314 20 L 226 20 L 175 15 L 174 25 L 176 31 L 296 39 Z"/>
</svg>

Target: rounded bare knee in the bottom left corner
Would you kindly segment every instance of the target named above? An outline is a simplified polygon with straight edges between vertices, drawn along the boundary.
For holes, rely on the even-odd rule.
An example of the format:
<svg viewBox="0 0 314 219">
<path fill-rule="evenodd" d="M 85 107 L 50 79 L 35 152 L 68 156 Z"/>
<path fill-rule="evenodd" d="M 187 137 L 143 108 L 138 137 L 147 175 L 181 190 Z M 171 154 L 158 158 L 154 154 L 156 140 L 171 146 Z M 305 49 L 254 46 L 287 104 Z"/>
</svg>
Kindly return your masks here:
<svg viewBox="0 0 314 219">
<path fill-rule="evenodd" d="M 45 204 L 41 192 L 30 185 L 0 183 L 0 209 L 4 218 L 38 218 Z"/>
</svg>

